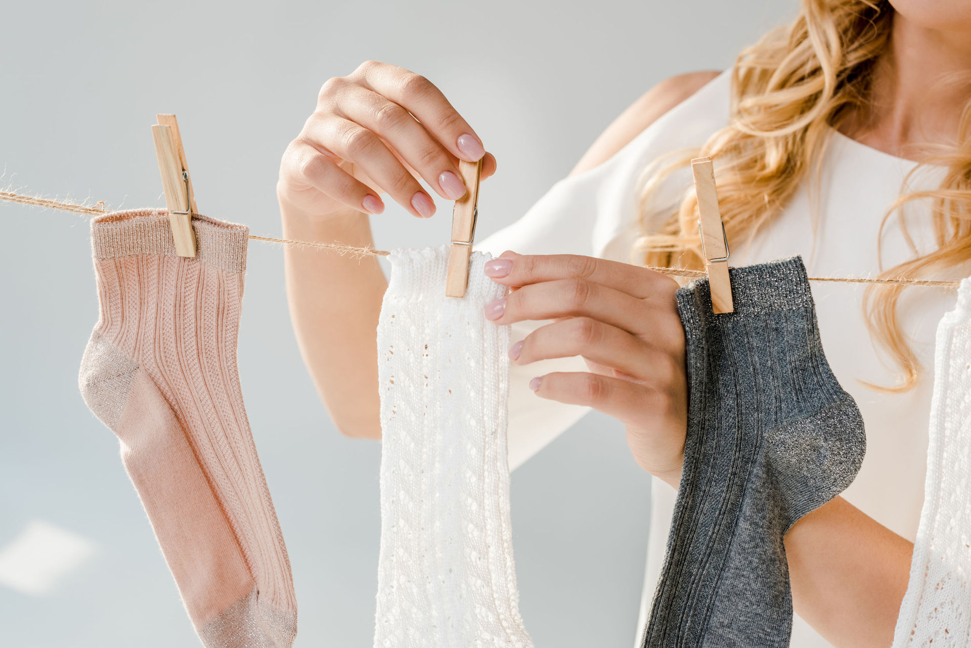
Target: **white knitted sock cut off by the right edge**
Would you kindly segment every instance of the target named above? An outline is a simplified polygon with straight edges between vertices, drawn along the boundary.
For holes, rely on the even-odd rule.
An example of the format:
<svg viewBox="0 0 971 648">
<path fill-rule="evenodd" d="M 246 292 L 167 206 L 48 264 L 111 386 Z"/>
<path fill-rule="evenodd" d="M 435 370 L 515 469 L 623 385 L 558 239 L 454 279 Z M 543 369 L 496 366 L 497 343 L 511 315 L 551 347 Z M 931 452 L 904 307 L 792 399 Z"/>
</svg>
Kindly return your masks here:
<svg viewBox="0 0 971 648">
<path fill-rule="evenodd" d="M 937 326 L 927 477 L 893 647 L 971 645 L 971 278 Z"/>
</svg>

